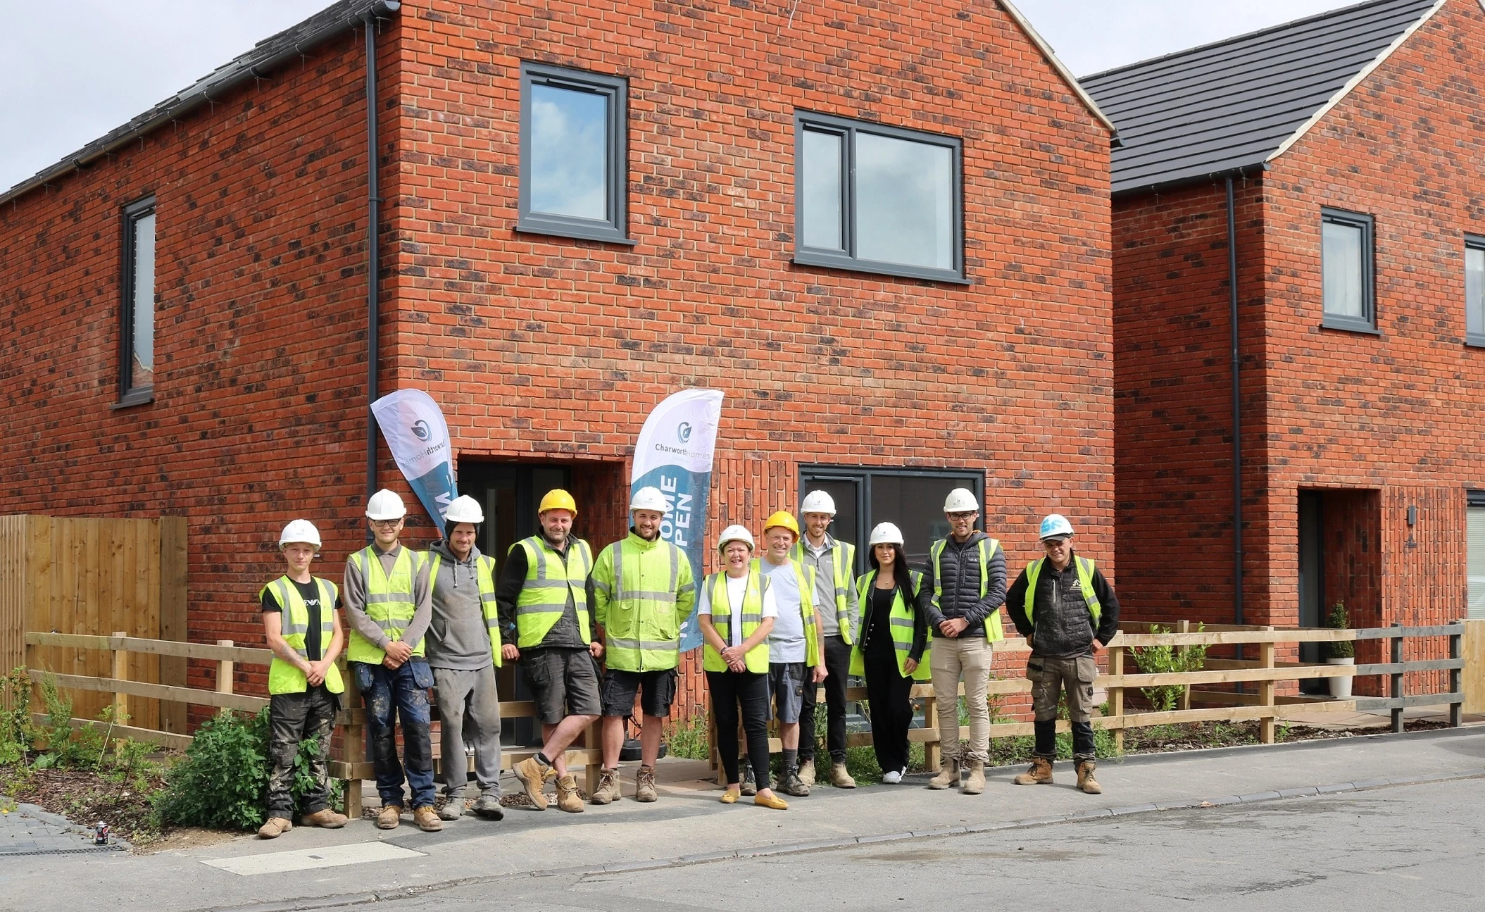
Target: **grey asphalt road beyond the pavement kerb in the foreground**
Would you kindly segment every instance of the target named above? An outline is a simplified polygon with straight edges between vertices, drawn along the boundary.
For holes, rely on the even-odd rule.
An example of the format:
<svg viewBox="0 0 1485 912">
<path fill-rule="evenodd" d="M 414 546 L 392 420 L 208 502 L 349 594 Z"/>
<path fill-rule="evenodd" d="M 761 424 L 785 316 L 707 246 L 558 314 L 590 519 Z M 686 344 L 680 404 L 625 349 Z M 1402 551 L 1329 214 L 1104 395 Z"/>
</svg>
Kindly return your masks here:
<svg viewBox="0 0 1485 912">
<path fill-rule="evenodd" d="M 379 903 L 380 905 L 380 903 Z M 423 909 L 1485 909 L 1485 780 L 474 884 Z"/>
</svg>

